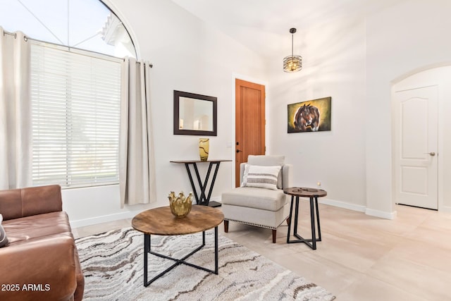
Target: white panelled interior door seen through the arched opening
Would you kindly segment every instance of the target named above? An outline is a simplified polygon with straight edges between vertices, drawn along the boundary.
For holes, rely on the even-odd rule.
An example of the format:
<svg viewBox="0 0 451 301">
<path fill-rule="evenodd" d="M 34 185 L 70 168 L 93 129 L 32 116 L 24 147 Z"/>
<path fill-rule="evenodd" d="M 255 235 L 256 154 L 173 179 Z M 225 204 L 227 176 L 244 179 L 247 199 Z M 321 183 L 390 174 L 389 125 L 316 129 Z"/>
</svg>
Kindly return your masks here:
<svg viewBox="0 0 451 301">
<path fill-rule="evenodd" d="M 397 91 L 394 99 L 396 202 L 438 209 L 438 86 Z"/>
</svg>

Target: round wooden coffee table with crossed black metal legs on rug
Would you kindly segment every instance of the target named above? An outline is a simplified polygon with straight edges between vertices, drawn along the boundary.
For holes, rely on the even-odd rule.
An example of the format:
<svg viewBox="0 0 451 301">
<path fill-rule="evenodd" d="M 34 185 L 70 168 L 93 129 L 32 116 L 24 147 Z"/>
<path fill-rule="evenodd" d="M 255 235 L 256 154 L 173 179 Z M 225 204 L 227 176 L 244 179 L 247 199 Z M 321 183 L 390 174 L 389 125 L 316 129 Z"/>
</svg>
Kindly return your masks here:
<svg viewBox="0 0 451 301">
<path fill-rule="evenodd" d="M 132 219 L 132 227 L 135 230 L 144 233 L 144 286 L 148 286 L 150 283 L 156 281 L 171 269 L 175 268 L 179 264 L 186 264 L 196 269 L 202 269 L 210 273 L 218 274 L 218 225 L 224 220 L 223 213 L 218 210 L 202 205 L 193 205 L 190 214 L 185 217 L 178 218 L 171 214 L 171 208 L 158 207 L 149 209 L 137 214 Z M 203 266 L 197 266 L 185 262 L 185 259 L 190 257 L 195 252 L 199 251 L 205 245 L 205 231 L 214 228 L 214 260 L 215 269 L 206 269 Z M 202 245 L 197 247 L 190 254 L 185 255 L 182 259 L 175 259 L 163 254 L 153 252 L 150 245 L 150 235 L 185 235 L 202 232 Z M 147 281 L 147 254 L 153 254 L 155 256 L 171 259 L 175 262 L 165 271 L 161 272 L 150 281 Z"/>
</svg>

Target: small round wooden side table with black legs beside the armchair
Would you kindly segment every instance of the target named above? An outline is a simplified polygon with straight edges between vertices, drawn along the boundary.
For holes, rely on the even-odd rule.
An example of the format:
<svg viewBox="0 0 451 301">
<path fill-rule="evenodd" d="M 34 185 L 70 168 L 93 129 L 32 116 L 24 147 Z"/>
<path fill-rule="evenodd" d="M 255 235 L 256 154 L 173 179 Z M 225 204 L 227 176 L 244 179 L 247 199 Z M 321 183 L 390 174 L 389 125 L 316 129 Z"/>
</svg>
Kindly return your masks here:
<svg viewBox="0 0 451 301">
<path fill-rule="evenodd" d="M 291 187 L 283 190 L 285 195 L 291 195 L 290 204 L 290 222 L 288 223 L 288 235 L 287 243 L 304 242 L 306 245 L 316 250 L 316 242 L 321 241 L 321 227 L 319 226 L 319 209 L 318 209 L 318 198 L 325 197 L 327 195 L 326 190 L 316 189 L 316 188 L 299 188 Z M 295 205 L 295 227 L 293 229 L 293 235 L 297 240 L 290 240 L 291 231 L 291 221 L 292 221 L 292 211 L 293 203 L 296 197 Z M 311 222 L 311 238 L 302 238 L 301 235 L 297 234 L 297 217 L 299 215 L 299 197 L 309 197 L 310 199 L 310 222 Z M 316 226 L 315 226 L 315 213 L 316 213 L 316 226 L 318 227 L 318 238 L 316 238 Z"/>
</svg>

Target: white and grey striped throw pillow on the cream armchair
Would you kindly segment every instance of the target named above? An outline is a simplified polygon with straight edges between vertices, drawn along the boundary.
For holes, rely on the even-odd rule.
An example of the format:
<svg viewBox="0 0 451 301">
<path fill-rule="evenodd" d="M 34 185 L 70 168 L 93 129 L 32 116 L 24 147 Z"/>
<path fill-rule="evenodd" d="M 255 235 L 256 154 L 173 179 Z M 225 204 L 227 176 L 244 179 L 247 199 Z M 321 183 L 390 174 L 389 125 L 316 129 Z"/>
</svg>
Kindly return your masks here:
<svg viewBox="0 0 451 301">
<path fill-rule="evenodd" d="M 277 178 L 281 166 L 245 165 L 242 187 L 255 187 L 277 190 Z"/>
</svg>

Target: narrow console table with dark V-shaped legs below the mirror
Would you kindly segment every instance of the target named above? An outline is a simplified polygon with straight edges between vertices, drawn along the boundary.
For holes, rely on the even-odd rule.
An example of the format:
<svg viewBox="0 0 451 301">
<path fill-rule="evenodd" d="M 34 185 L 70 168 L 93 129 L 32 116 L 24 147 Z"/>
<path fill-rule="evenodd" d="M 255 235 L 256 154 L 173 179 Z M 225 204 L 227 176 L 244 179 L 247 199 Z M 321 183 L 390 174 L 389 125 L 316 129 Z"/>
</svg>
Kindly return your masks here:
<svg viewBox="0 0 451 301">
<path fill-rule="evenodd" d="M 216 180 L 216 174 L 218 173 L 219 164 L 221 164 L 221 162 L 228 162 L 228 161 L 232 161 L 232 160 L 223 160 L 223 159 L 221 159 L 221 160 L 207 160 L 207 161 L 184 160 L 184 161 L 171 161 L 171 163 L 185 164 L 186 171 L 188 173 L 188 177 L 190 177 L 190 183 L 191 183 L 192 192 L 194 193 L 194 197 L 196 198 L 197 204 L 204 205 L 204 206 L 209 206 L 209 207 L 220 207 L 221 203 L 210 202 L 210 197 L 211 197 L 211 192 L 213 191 L 214 182 Z M 209 164 L 209 169 L 206 172 L 204 183 L 202 183 L 202 179 L 200 178 L 200 175 L 199 175 L 199 169 L 197 168 L 197 164 L 198 163 L 208 163 Z M 190 165 L 192 165 L 194 167 L 194 172 L 196 174 L 197 182 L 199 183 L 200 194 L 197 193 L 196 186 L 194 185 L 194 180 L 192 178 Z M 209 193 L 208 193 L 208 195 L 206 195 L 206 193 L 205 193 L 206 192 L 206 186 L 209 183 L 210 176 L 211 176 L 211 168 L 213 168 L 213 165 L 216 165 L 216 167 L 214 169 L 213 178 L 211 179 Z"/>
</svg>

